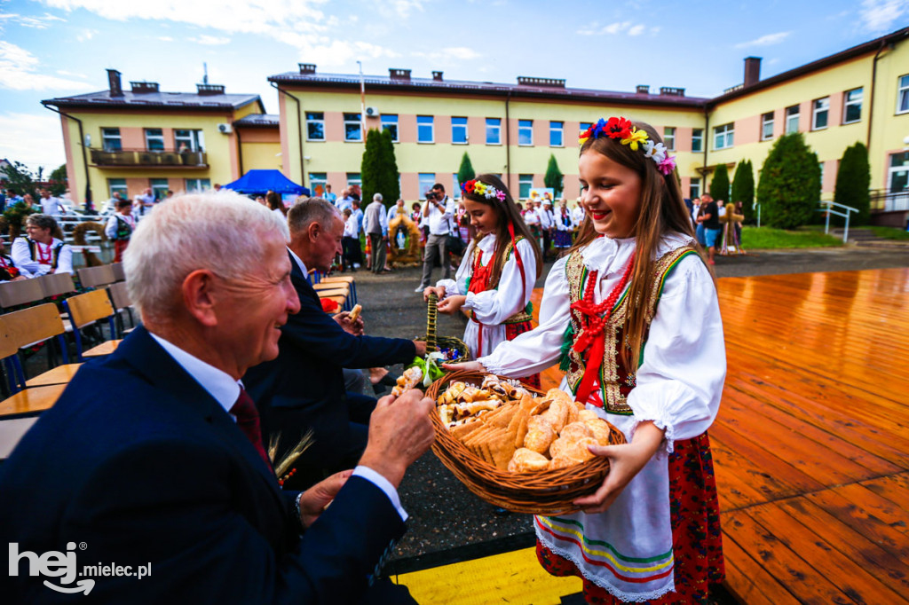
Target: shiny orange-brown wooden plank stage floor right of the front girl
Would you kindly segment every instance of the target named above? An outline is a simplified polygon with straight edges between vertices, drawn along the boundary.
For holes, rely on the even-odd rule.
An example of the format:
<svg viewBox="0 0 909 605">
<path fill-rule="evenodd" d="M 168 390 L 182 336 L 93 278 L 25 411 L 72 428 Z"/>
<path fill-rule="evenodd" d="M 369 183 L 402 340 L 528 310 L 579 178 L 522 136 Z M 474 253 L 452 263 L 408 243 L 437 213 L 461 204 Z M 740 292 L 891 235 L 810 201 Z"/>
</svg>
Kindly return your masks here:
<svg viewBox="0 0 909 605">
<path fill-rule="evenodd" d="M 909 269 L 724 278 L 719 298 L 726 588 L 909 602 Z"/>
</svg>

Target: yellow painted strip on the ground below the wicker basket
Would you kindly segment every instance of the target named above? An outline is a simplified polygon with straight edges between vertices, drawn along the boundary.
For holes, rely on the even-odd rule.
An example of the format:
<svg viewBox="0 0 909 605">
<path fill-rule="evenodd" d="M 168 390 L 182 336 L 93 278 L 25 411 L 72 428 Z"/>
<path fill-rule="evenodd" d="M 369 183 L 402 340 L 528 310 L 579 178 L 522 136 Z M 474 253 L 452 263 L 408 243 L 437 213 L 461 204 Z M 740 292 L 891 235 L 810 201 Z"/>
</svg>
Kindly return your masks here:
<svg viewBox="0 0 909 605">
<path fill-rule="evenodd" d="M 393 578 L 421 605 L 559 605 L 581 591 L 578 578 L 556 578 L 540 567 L 534 548 L 414 571 Z"/>
</svg>

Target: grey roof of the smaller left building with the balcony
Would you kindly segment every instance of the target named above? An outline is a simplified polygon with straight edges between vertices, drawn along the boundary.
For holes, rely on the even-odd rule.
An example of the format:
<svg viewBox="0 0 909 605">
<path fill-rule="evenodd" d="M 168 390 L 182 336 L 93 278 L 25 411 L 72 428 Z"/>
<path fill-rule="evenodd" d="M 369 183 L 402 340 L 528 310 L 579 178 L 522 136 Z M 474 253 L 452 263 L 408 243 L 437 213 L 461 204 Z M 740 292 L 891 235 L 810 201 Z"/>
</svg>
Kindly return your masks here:
<svg viewBox="0 0 909 605">
<path fill-rule="evenodd" d="M 258 94 L 197 94 L 197 93 L 133 93 L 123 91 L 123 96 L 111 96 L 109 90 L 97 93 L 75 94 L 47 99 L 41 102 L 56 107 L 122 107 L 142 109 L 157 107 L 164 109 L 234 110 L 246 104 L 258 103 L 265 111 Z"/>
</svg>

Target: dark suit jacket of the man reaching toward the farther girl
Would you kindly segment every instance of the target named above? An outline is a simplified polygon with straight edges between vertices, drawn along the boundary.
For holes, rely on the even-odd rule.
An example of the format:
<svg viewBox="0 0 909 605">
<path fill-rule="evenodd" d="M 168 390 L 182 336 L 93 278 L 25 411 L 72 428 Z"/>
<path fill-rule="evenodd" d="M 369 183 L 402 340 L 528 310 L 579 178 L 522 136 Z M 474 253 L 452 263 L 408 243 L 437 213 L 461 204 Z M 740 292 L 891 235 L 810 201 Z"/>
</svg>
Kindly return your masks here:
<svg viewBox="0 0 909 605">
<path fill-rule="evenodd" d="M 407 363 L 414 359 L 416 350 L 409 340 L 353 336 L 345 332 L 322 310 L 318 294 L 293 256 L 290 260 L 291 281 L 300 297 L 300 312 L 291 315 L 281 329 L 277 359 L 250 368 L 243 382 L 266 418 L 269 408 L 294 409 L 298 426 L 277 428 L 283 438 L 294 443 L 302 434 L 290 432 L 313 429 L 315 442 L 305 455 L 325 461 L 328 467 L 338 462 L 333 444 L 348 439 L 342 369 Z"/>
</svg>

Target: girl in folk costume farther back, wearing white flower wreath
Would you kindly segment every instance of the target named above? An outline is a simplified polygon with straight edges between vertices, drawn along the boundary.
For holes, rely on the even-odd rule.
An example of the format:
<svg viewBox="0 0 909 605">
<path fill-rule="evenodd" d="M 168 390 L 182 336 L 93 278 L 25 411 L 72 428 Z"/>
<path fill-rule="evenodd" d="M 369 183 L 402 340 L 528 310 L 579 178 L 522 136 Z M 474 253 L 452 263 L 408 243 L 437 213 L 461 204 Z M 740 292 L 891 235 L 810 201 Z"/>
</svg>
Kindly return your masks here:
<svg viewBox="0 0 909 605">
<path fill-rule="evenodd" d="M 435 292 L 439 312 L 462 311 L 470 318 L 464 342 L 475 359 L 531 330 L 530 296 L 543 262 L 511 193 L 497 176 L 480 174 L 462 183 L 461 191 L 476 237 L 454 280 L 426 288 L 424 298 Z M 528 382 L 539 386 L 539 376 Z"/>
</svg>

